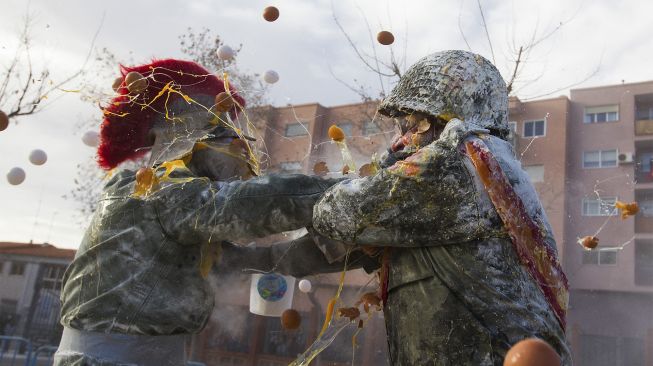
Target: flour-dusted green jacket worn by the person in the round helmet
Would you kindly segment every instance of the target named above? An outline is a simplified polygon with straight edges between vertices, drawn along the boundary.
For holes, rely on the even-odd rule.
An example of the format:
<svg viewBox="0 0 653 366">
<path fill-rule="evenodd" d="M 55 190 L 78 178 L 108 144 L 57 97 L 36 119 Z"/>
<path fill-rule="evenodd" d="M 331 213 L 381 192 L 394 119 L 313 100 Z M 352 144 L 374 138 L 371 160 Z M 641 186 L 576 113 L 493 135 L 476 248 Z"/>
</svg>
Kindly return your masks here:
<svg viewBox="0 0 653 366">
<path fill-rule="evenodd" d="M 327 190 L 314 208 L 314 227 L 335 240 L 393 247 L 384 309 L 393 365 L 502 365 L 512 344 L 533 336 L 567 365 L 564 330 L 465 154 L 464 141 L 479 137 L 555 252 L 512 146 L 471 121 L 452 120 L 407 159 Z"/>
</svg>

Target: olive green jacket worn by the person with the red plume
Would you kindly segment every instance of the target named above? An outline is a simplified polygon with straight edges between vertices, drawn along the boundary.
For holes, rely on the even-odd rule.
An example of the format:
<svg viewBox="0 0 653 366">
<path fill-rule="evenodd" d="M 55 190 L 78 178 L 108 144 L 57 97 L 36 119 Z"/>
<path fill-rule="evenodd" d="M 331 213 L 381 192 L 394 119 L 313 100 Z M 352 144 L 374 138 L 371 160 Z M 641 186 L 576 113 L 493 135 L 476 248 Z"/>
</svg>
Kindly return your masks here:
<svg viewBox="0 0 653 366">
<path fill-rule="evenodd" d="M 200 247 L 309 226 L 313 204 L 336 180 L 270 175 L 211 182 L 183 169 L 145 199 L 135 174 L 105 186 L 64 276 L 61 322 L 79 330 L 141 335 L 195 333 L 214 294 L 200 275 Z"/>
</svg>

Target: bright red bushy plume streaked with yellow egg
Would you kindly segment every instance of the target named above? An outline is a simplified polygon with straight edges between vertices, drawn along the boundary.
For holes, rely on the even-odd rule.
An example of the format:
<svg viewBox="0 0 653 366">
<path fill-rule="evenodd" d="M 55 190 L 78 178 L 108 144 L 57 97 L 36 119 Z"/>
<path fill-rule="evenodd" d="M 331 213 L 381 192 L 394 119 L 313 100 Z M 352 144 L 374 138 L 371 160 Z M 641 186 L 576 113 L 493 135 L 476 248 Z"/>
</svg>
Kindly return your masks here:
<svg viewBox="0 0 653 366">
<path fill-rule="evenodd" d="M 98 164 L 106 170 L 147 152 L 147 148 L 152 144 L 148 133 L 154 121 L 165 117 L 168 106 L 172 103 L 183 100 L 183 96 L 193 99 L 203 96 L 202 100 L 207 100 L 206 97 L 214 100 L 216 95 L 225 91 L 222 80 L 191 61 L 166 59 L 141 66 L 120 66 L 123 80 L 132 71 L 142 74 L 148 85 L 142 93 L 133 96 L 128 95 L 129 91 L 123 82 L 118 89 L 120 95 L 113 98 L 111 104 L 103 109 Z M 164 91 L 157 98 L 168 84 L 174 92 Z M 233 88 L 230 88 L 230 93 L 237 102 L 229 111 L 235 118 L 245 106 L 245 101 Z M 208 109 L 211 105 L 205 107 Z"/>
</svg>

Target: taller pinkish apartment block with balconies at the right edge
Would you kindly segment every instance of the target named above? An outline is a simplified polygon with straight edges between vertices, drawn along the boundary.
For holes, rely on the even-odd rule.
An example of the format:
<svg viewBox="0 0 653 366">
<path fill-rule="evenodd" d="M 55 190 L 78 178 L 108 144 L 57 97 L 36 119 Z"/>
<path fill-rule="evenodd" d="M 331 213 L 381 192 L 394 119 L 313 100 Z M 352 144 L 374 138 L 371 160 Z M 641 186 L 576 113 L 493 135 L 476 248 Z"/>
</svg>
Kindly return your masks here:
<svg viewBox="0 0 653 366">
<path fill-rule="evenodd" d="M 653 82 L 571 90 L 564 266 L 578 365 L 653 365 Z M 615 200 L 641 211 L 622 220 Z M 575 242 L 596 235 L 599 247 Z"/>
</svg>

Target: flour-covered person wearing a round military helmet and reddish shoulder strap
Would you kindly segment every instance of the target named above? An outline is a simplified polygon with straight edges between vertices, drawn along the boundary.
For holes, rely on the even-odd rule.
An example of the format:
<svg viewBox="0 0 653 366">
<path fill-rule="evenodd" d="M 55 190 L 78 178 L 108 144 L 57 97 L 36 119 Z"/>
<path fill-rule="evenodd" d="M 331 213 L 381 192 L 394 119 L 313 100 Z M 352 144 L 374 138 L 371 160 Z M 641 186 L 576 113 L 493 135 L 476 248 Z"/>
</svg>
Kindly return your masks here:
<svg viewBox="0 0 653 366">
<path fill-rule="evenodd" d="M 571 365 L 568 285 L 507 141 L 498 70 L 470 52 L 429 55 L 379 112 L 400 130 L 382 169 L 329 188 L 313 227 L 354 248 L 384 247 L 391 364 L 500 366 L 512 345 L 537 337 Z"/>
</svg>

